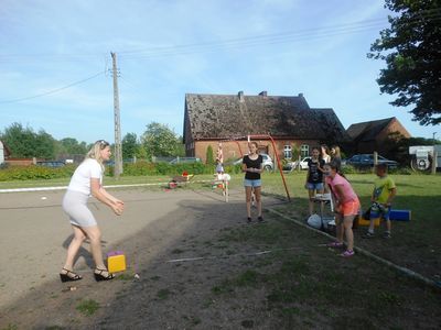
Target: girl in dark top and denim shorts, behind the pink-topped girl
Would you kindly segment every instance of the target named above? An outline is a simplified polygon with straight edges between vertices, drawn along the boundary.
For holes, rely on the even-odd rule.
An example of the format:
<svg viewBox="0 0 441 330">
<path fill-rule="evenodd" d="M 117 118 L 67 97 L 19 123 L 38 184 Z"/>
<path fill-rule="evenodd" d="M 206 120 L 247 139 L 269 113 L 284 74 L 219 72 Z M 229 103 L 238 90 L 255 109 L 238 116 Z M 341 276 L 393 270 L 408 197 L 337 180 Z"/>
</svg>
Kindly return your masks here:
<svg viewBox="0 0 441 330">
<path fill-rule="evenodd" d="M 309 211 L 310 216 L 314 213 L 314 197 L 315 194 L 323 194 L 323 168 L 325 162 L 320 157 L 320 150 L 318 147 L 312 148 L 311 160 L 308 161 L 308 175 L 304 187 L 308 189 L 310 202 Z"/>
</svg>

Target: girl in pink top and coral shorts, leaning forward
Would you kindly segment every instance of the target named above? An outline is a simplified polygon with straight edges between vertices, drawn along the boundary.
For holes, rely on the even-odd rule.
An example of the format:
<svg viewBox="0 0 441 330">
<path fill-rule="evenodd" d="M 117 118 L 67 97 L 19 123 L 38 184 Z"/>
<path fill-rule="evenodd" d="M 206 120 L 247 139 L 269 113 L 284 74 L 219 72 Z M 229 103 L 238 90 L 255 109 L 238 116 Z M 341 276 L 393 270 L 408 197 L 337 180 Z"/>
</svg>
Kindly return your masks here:
<svg viewBox="0 0 441 330">
<path fill-rule="evenodd" d="M 359 200 L 347 179 L 337 173 L 338 165 L 335 162 L 325 164 L 323 174 L 325 183 L 331 189 L 335 206 L 335 226 L 337 242 L 329 244 L 332 248 L 343 246 L 343 234 L 346 237 L 347 249 L 342 256 L 354 255 L 354 233 L 352 226 L 355 217 L 359 213 Z"/>
</svg>

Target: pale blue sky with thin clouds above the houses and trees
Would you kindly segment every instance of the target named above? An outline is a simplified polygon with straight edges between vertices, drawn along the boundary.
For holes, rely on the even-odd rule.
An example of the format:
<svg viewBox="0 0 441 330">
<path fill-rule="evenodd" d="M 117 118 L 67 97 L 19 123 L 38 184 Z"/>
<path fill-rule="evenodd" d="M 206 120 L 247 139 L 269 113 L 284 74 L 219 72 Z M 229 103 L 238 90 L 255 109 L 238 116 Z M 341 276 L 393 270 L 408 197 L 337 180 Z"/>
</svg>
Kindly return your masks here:
<svg viewBox="0 0 441 330">
<path fill-rule="evenodd" d="M 384 0 L 0 0 L 0 132 L 114 142 L 112 52 L 122 138 L 151 122 L 182 135 L 185 94 L 262 90 L 303 94 L 346 129 L 396 117 L 439 138 L 379 91 L 385 63 L 366 54 L 388 14 Z"/>
</svg>

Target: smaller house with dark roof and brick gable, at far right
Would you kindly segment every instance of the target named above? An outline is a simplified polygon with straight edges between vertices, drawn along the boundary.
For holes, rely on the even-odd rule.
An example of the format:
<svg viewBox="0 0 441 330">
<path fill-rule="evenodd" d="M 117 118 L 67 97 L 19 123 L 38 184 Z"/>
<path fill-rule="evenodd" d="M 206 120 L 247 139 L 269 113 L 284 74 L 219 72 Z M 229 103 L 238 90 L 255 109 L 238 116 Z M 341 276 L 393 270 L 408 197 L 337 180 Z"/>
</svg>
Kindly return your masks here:
<svg viewBox="0 0 441 330">
<path fill-rule="evenodd" d="M 387 154 L 391 146 L 388 142 L 411 138 L 395 117 L 354 123 L 347 128 L 347 134 L 356 154 L 372 154 L 374 151 Z"/>
</svg>

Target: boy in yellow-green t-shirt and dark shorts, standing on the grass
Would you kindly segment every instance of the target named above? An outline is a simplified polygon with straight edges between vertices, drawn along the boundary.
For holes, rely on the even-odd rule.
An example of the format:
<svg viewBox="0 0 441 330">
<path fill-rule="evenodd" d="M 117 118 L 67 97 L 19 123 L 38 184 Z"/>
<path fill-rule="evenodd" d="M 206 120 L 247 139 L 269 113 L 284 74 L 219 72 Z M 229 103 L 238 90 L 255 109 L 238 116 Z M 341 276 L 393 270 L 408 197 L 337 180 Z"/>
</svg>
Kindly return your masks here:
<svg viewBox="0 0 441 330">
<path fill-rule="evenodd" d="M 386 231 L 383 237 L 385 239 L 390 239 L 390 205 L 397 195 L 397 187 L 395 186 L 394 180 L 387 175 L 386 164 L 378 164 L 375 167 L 375 172 L 378 177 L 374 182 L 374 190 L 370 198 L 370 201 L 373 202 L 370 207 L 370 223 L 369 229 L 363 235 L 363 238 L 373 238 L 375 220 L 383 218 L 386 222 Z"/>
</svg>

